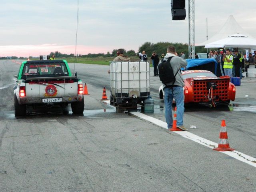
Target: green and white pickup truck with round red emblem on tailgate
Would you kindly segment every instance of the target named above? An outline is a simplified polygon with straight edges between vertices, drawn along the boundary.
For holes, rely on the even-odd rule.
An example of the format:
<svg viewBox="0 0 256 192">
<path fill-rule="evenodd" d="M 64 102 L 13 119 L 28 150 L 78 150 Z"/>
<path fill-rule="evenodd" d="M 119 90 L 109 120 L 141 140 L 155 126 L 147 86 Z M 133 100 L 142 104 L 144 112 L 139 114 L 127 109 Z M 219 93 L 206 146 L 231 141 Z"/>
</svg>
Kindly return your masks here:
<svg viewBox="0 0 256 192">
<path fill-rule="evenodd" d="M 15 116 L 25 116 L 26 107 L 71 104 L 73 114 L 84 112 L 83 84 L 72 76 L 66 60 L 24 61 L 14 87 Z"/>
</svg>

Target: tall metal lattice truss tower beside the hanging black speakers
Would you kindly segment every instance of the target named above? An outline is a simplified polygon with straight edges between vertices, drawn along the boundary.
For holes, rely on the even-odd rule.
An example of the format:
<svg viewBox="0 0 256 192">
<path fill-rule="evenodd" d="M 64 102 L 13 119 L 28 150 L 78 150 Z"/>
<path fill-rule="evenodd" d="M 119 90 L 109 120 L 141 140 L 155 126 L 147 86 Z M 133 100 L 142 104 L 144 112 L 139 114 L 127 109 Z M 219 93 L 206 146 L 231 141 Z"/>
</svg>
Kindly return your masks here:
<svg viewBox="0 0 256 192">
<path fill-rule="evenodd" d="M 195 58 L 195 0 L 188 0 L 188 58 Z"/>
</svg>

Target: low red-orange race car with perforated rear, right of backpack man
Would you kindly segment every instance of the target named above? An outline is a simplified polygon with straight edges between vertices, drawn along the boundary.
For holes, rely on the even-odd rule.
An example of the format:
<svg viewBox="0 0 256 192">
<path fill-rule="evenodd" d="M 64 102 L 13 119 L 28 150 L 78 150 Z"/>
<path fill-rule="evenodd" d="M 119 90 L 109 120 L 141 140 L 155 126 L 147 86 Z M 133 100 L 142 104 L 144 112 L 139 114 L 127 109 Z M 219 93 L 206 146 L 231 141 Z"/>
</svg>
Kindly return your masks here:
<svg viewBox="0 0 256 192">
<path fill-rule="evenodd" d="M 182 71 L 185 86 L 184 104 L 198 103 L 207 106 L 229 105 L 234 101 L 236 87 L 230 82 L 229 76 L 217 77 L 207 70 Z M 164 98 L 163 86 L 159 88 L 159 98 Z"/>
</svg>

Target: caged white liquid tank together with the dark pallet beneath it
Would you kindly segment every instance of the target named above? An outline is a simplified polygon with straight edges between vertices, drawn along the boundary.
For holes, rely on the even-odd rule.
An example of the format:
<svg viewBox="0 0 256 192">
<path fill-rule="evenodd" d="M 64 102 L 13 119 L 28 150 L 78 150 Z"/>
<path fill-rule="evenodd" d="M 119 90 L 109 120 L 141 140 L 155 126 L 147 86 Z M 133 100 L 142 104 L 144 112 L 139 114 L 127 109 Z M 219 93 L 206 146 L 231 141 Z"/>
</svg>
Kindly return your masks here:
<svg viewBox="0 0 256 192">
<path fill-rule="evenodd" d="M 150 67 L 147 61 L 111 62 L 110 105 L 118 112 L 144 109 L 144 100 L 150 95 Z"/>
</svg>

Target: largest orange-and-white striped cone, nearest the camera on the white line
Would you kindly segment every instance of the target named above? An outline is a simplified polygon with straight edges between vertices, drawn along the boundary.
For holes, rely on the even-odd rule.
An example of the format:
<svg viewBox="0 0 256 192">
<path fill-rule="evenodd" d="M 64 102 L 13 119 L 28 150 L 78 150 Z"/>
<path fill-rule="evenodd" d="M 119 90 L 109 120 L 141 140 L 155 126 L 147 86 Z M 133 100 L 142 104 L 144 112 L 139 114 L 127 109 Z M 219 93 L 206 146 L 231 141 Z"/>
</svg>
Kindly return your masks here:
<svg viewBox="0 0 256 192">
<path fill-rule="evenodd" d="M 216 151 L 233 151 L 233 150 L 235 150 L 233 148 L 230 148 L 230 146 L 228 144 L 228 133 L 226 131 L 225 120 L 221 121 L 220 138 L 219 138 L 218 147 L 214 148 L 213 150 L 216 150 Z"/>
</svg>

